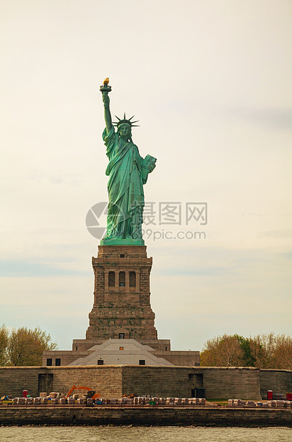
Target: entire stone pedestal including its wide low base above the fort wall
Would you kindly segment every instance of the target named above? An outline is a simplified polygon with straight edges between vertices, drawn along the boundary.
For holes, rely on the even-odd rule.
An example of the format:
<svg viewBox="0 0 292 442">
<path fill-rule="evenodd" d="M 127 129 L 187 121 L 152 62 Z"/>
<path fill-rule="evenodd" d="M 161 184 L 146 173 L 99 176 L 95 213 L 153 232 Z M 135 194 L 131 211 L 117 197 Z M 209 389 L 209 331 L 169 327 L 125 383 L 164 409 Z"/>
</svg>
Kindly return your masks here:
<svg viewBox="0 0 292 442">
<path fill-rule="evenodd" d="M 103 244 L 92 262 L 94 302 L 86 339 L 73 339 L 71 351 L 44 351 L 43 366 L 199 366 L 199 351 L 171 351 L 170 339 L 157 339 L 152 258 L 145 245 Z"/>
</svg>

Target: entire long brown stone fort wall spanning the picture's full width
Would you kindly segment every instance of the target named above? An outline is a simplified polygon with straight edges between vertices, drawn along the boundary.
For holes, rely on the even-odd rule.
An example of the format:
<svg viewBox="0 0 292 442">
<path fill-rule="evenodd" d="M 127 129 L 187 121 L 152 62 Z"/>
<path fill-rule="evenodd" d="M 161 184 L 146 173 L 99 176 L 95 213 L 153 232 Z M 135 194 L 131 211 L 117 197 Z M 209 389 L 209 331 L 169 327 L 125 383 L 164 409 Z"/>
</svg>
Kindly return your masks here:
<svg viewBox="0 0 292 442">
<path fill-rule="evenodd" d="M 66 394 L 73 385 L 89 386 L 105 398 L 122 394 L 192 397 L 204 389 L 206 399 L 266 398 L 266 391 L 291 391 L 292 371 L 251 367 L 56 366 L 0 367 L 0 396 L 31 396 L 40 391 Z"/>
</svg>

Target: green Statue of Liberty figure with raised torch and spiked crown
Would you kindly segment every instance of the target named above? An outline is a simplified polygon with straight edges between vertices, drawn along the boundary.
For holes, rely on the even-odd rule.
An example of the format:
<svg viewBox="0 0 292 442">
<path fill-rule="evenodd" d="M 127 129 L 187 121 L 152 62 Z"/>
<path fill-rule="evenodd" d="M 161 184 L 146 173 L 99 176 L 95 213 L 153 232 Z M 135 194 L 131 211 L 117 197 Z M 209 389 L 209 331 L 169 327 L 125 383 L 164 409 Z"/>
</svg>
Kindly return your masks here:
<svg viewBox="0 0 292 442">
<path fill-rule="evenodd" d="M 148 174 L 155 168 L 156 159 L 150 155 L 140 156 L 132 142 L 132 127 L 137 121 L 124 117 L 112 123 L 110 115 L 111 91 L 108 78 L 100 86 L 105 108 L 105 130 L 103 140 L 109 163 L 105 170 L 108 180 L 107 232 L 102 245 L 144 245 L 142 239 L 142 213 L 144 209 L 143 185 Z M 116 126 L 117 130 L 113 124 Z"/>
</svg>

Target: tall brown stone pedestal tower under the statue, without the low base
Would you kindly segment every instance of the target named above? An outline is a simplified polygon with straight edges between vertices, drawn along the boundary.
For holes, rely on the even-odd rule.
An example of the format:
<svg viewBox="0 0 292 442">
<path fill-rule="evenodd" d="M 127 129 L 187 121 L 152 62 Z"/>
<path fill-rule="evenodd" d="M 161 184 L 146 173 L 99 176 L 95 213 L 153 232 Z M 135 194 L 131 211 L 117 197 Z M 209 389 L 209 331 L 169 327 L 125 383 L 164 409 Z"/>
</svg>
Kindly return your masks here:
<svg viewBox="0 0 292 442">
<path fill-rule="evenodd" d="M 100 245 L 93 257 L 93 309 L 86 340 L 157 340 L 150 306 L 152 258 L 139 245 Z"/>
</svg>

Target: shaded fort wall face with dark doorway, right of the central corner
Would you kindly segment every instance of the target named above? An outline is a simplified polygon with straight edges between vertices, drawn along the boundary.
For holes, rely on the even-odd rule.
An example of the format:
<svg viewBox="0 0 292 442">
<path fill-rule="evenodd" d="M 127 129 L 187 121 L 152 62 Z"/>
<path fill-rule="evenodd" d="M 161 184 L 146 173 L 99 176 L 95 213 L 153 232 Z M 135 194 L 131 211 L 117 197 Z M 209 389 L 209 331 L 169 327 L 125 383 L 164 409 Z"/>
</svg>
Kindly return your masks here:
<svg viewBox="0 0 292 442">
<path fill-rule="evenodd" d="M 192 397 L 202 389 L 206 399 L 242 398 L 260 400 L 259 370 L 226 367 L 150 367 L 123 366 L 122 389 L 125 394 L 165 397 Z"/>
</svg>

